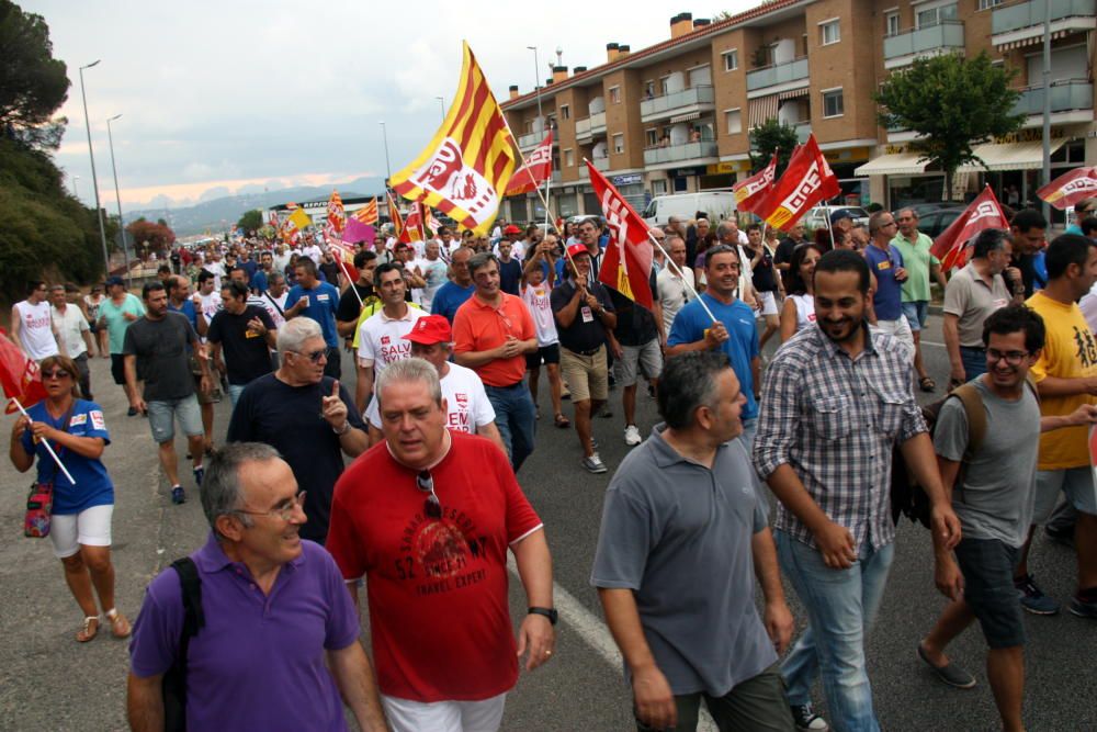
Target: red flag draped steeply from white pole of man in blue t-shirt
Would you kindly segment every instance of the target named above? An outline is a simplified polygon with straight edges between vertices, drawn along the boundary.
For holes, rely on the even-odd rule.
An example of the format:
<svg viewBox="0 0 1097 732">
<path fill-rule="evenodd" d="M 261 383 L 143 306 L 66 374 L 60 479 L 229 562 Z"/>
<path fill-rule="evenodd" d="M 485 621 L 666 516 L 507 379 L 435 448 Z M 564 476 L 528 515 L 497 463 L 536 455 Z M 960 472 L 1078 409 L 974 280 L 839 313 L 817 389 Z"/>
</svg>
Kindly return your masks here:
<svg viewBox="0 0 1097 732">
<path fill-rule="evenodd" d="M 652 241 L 647 224 L 617 189 L 590 164 L 590 185 L 602 205 L 610 241 L 602 257 L 598 281 L 637 305 L 652 309 Z"/>
</svg>

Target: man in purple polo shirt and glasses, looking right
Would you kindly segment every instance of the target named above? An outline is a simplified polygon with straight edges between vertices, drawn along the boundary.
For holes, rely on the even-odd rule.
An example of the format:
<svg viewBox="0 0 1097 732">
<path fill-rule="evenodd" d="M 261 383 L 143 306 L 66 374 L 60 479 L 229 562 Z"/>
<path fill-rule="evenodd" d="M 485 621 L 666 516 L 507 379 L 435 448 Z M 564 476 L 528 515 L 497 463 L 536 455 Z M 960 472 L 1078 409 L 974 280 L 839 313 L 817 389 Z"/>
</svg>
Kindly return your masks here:
<svg viewBox="0 0 1097 732">
<path fill-rule="evenodd" d="M 212 531 L 191 554 L 205 624 L 186 653 L 186 729 L 342 731 L 340 696 L 362 730 L 388 729 L 342 576 L 324 548 L 297 533 L 303 499 L 268 444 L 226 444 L 210 461 L 202 508 Z M 169 570 L 149 585 L 134 626 L 135 731 L 165 729 L 161 682 L 183 620 L 180 579 Z"/>
</svg>

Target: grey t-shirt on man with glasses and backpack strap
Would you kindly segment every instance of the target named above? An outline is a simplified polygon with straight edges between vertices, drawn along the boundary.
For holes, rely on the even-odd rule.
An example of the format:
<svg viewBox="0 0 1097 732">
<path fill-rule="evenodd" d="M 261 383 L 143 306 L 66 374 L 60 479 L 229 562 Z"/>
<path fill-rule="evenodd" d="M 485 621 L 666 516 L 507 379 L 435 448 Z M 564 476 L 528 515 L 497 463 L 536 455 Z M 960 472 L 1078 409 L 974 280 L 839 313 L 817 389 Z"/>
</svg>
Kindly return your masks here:
<svg viewBox="0 0 1097 732">
<path fill-rule="evenodd" d="M 994 539 L 1020 547 L 1032 522 L 1032 492 L 1040 446 L 1040 404 L 1021 385 L 1021 397 L 1004 399 L 976 379 L 986 413 L 986 435 L 952 487 L 952 508 L 964 539 Z M 945 402 L 934 429 L 937 454 L 960 462 L 969 442 L 968 414 L 959 398 Z"/>
</svg>

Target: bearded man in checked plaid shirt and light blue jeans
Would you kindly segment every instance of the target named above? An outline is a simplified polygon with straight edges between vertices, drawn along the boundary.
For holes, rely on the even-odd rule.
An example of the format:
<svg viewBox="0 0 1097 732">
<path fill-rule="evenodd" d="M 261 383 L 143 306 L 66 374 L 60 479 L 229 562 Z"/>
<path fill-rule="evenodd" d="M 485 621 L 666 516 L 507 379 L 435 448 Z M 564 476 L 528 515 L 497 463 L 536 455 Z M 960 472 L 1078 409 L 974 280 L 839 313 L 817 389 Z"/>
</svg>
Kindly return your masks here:
<svg viewBox="0 0 1097 732">
<path fill-rule="evenodd" d="M 808 613 L 781 669 L 805 730 L 826 729 L 810 707 L 816 673 L 837 729 L 880 729 L 863 639 L 893 555 L 893 444 L 929 495 L 934 531 L 950 549 L 960 540 L 911 388 L 909 351 L 869 331 L 868 291 L 869 268 L 857 252 L 830 251 L 815 266 L 817 327 L 796 334 L 770 363 L 754 448 L 755 468 L 780 500 L 781 568 Z"/>
</svg>

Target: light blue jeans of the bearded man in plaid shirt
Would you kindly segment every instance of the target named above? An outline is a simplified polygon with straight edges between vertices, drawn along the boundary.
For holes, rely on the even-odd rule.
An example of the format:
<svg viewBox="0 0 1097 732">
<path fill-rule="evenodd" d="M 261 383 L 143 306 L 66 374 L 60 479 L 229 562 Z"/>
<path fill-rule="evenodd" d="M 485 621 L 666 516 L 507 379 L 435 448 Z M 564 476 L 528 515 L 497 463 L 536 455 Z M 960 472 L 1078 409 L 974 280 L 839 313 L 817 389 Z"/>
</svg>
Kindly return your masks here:
<svg viewBox="0 0 1097 732">
<path fill-rule="evenodd" d="M 848 570 L 832 570 L 823 555 L 784 531 L 774 531 L 781 571 L 807 610 L 808 626 L 781 664 L 790 705 L 811 701 L 816 675 L 836 732 L 879 732 L 864 668 L 864 635 L 883 598 L 894 547 L 864 542 Z"/>
</svg>

